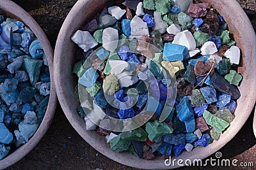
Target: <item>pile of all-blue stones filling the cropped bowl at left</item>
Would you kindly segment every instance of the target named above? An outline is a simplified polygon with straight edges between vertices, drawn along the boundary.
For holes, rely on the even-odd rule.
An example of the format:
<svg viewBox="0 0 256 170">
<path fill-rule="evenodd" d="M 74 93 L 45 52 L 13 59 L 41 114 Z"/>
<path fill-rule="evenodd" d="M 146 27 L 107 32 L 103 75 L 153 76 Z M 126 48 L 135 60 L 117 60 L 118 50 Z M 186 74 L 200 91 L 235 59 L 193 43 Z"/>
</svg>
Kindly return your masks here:
<svg viewBox="0 0 256 170">
<path fill-rule="evenodd" d="M 0 160 L 28 142 L 44 118 L 50 75 L 44 50 L 22 22 L 0 16 Z"/>
</svg>

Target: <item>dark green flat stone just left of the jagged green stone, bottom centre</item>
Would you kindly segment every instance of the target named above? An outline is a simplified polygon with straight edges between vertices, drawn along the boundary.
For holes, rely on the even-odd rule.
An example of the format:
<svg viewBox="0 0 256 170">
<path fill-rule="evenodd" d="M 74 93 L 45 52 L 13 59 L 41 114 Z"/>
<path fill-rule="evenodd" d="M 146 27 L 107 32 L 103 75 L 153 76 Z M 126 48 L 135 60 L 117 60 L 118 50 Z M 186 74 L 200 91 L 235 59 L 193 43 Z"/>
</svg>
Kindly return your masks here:
<svg viewBox="0 0 256 170">
<path fill-rule="evenodd" d="M 133 140 L 133 141 L 146 141 L 148 133 L 145 132 L 141 127 L 132 131 L 122 132 L 119 134 L 121 139 Z"/>
</svg>

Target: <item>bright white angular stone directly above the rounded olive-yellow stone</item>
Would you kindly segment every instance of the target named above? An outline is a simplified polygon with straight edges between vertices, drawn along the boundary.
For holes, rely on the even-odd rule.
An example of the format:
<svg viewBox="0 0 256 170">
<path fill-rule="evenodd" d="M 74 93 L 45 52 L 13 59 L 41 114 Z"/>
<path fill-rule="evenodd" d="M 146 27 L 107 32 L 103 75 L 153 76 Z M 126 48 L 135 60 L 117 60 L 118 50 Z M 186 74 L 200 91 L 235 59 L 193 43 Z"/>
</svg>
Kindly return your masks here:
<svg viewBox="0 0 256 170">
<path fill-rule="evenodd" d="M 130 69 L 130 64 L 124 60 L 109 60 L 109 65 L 111 67 L 111 74 L 114 75 L 122 73 L 124 69 Z"/>
</svg>

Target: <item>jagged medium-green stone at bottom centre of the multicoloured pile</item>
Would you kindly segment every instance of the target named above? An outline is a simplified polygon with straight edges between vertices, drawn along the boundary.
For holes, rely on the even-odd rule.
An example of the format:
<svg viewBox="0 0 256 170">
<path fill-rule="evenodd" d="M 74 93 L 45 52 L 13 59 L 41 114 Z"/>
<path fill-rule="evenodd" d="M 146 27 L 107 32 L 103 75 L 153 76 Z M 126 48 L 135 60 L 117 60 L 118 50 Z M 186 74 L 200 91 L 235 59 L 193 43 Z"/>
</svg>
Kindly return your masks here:
<svg viewBox="0 0 256 170">
<path fill-rule="evenodd" d="M 162 136 L 172 134 L 173 129 L 169 125 L 155 120 L 154 122 L 147 122 L 146 131 L 148 132 L 148 139 L 150 139 L 150 141 L 159 143 L 161 142 Z"/>
</svg>

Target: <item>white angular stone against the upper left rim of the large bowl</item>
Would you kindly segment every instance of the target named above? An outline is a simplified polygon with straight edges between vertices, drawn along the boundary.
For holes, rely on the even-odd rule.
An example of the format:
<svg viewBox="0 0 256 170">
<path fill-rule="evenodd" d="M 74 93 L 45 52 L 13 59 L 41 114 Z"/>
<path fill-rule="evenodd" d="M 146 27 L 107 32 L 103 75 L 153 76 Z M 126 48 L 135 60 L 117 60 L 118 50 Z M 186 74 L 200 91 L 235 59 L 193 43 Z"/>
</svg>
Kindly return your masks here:
<svg viewBox="0 0 256 170">
<path fill-rule="evenodd" d="M 80 48 L 82 48 L 84 52 L 88 52 L 90 48 L 93 48 L 98 45 L 97 41 L 88 31 L 77 30 L 71 39 Z"/>
</svg>

